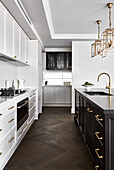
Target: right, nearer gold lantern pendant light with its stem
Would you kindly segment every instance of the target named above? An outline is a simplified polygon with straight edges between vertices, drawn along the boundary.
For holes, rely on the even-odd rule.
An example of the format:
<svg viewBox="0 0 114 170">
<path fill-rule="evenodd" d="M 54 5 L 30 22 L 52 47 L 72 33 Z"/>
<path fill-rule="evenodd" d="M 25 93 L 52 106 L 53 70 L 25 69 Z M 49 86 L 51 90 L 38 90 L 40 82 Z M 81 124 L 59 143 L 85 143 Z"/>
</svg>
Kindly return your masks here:
<svg viewBox="0 0 114 170">
<path fill-rule="evenodd" d="M 113 3 L 108 3 L 107 6 L 109 8 L 109 28 L 105 29 L 102 34 L 103 52 L 106 55 L 108 51 L 114 52 L 114 28 L 111 27 L 111 8 Z"/>
</svg>

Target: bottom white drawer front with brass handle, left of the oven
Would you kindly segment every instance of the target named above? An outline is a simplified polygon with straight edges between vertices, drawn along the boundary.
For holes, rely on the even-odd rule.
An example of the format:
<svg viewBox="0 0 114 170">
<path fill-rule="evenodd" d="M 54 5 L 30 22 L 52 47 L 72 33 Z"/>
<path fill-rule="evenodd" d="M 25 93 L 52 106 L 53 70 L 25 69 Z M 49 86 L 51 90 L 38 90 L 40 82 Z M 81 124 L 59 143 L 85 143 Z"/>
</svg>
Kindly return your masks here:
<svg viewBox="0 0 114 170">
<path fill-rule="evenodd" d="M 10 135 L 5 139 L 5 141 L 0 145 L 0 159 L 2 159 L 8 151 L 15 144 L 15 129 L 10 133 Z"/>
</svg>

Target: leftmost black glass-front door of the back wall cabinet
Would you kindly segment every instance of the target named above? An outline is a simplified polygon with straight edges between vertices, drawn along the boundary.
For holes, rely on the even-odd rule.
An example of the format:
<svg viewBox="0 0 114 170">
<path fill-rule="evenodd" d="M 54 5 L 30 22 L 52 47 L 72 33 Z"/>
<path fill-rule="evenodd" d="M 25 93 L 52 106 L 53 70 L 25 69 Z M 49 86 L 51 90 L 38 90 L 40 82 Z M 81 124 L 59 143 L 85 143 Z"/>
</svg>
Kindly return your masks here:
<svg viewBox="0 0 114 170">
<path fill-rule="evenodd" d="M 46 53 L 46 69 L 55 70 L 56 69 L 56 54 Z"/>
</svg>

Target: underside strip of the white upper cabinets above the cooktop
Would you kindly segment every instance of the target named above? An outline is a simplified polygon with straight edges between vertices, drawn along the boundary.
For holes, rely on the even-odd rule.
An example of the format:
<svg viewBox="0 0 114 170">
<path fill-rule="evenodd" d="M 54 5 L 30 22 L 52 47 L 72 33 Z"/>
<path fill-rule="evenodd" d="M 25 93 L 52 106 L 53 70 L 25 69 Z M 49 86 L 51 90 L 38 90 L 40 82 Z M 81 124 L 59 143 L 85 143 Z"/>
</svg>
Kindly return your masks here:
<svg viewBox="0 0 114 170">
<path fill-rule="evenodd" d="M 16 58 L 9 57 L 2 53 L 0 53 L 0 60 L 4 61 L 4 62 L 8 62 L 8 63 L 16 65 L 16 66 L 29 66 L 29 64 L 27 64 L 27 63 L 24 63 Z"/>
</svg>

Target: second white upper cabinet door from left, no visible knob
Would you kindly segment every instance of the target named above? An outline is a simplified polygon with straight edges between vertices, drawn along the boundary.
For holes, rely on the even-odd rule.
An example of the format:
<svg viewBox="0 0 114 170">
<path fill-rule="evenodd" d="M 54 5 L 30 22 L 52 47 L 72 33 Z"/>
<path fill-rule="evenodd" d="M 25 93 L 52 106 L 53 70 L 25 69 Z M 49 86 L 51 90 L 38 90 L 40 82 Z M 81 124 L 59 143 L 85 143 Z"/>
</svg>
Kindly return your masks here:
<svg viewBox="0 0 114 170">
<path fill-rule="evenodd" d="M 6 55 L 13 57 L 13 18 L 6 11 L 6 32 L 5 32 L 5 53 Z"/>
</svg>

